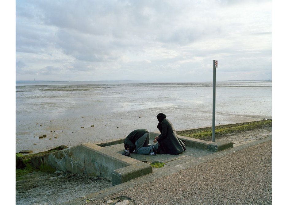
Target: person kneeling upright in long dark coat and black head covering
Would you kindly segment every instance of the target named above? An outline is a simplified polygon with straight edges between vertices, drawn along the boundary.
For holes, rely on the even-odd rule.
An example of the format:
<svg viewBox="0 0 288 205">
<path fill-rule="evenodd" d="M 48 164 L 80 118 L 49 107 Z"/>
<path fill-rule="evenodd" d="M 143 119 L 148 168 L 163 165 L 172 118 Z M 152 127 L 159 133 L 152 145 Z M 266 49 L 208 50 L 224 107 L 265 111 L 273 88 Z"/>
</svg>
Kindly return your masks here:
<svg viewBox="0 0 288 205">
<path fill-rule="evenodd" d="M 155 137 L 154 143 L 160 144 L 158 153 L 160 154 L 179 154 L 186 150 L 184 143 L 177 137 L 176 131 L 172 123 L 163 113 L 157 114 L 159 121 L 157 128 L 160 135 Z"/>
</svg>

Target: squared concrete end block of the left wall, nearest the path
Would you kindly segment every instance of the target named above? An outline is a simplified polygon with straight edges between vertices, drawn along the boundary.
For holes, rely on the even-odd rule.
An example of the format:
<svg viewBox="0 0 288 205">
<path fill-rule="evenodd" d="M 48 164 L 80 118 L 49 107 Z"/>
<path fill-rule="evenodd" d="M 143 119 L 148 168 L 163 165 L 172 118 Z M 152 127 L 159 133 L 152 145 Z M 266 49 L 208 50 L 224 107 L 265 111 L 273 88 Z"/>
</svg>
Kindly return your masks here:
<svg viewBox="0 0 288 205">
<path fill-rule="evenodd" d="M 116 169 L 112 172 L 112 185 L 121 184 L 149 173 L 152 173 L 152 167 L 143 162 Z"/>
</svg>

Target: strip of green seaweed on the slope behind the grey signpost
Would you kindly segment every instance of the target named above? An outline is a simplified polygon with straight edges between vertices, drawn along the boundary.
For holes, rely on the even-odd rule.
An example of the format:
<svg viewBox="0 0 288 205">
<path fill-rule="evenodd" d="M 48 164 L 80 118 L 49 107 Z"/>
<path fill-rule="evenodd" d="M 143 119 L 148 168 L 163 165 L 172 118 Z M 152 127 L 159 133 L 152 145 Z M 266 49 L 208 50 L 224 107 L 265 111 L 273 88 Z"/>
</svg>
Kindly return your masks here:
<svg viewBox="0 0 288 205">
<path fill-rule="evenodd" d="M 272 120 L 260 120 L 253 122 L 243 122 L 230 125 L 215 126 L 215 137 L 221 138 L 227 135 L 241 133 L 249 130 L 272 127 Z M 212 127 L 198 128 L 193 130 L 183 130 L 176 132 L 178 135 L 191 137 L 200 140 L 211 141 Z"/>
</svg>

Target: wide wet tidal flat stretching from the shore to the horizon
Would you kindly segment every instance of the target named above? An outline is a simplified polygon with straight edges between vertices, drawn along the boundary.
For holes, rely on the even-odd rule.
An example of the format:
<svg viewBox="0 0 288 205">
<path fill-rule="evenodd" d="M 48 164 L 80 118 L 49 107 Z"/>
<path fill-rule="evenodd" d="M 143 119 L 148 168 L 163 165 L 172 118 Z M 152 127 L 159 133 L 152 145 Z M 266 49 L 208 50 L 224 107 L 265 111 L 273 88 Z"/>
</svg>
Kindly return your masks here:
<svg viewBox="0 0 288 205">
<path fill-rule="evenodd" d="M 271 119 L 271 90 L 271 81 L 217 82 L 216 126 Z M 212 95 L 212 82 L 17 81 L 16 152 L 157 131 L 160 112 L 176 131 L 212 126 Z"/>
</svg>

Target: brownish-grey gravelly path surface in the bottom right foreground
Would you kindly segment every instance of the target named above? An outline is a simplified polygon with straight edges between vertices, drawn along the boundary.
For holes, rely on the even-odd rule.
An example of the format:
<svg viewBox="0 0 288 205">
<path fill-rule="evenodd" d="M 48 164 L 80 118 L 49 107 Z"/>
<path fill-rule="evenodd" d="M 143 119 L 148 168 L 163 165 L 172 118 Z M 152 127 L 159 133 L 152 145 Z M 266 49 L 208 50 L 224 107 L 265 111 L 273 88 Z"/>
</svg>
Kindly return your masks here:
<svg viewBox="0 0 288 205">
<path fill-rule="evenodd" d="M 271 146 L 271 141 L 254 145 L 88 204 L 117 198 L 138 205 L 271 204 Z"/>
</svg>

